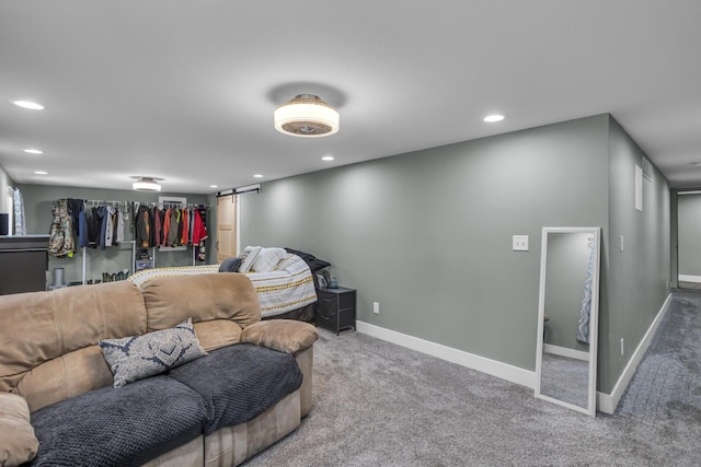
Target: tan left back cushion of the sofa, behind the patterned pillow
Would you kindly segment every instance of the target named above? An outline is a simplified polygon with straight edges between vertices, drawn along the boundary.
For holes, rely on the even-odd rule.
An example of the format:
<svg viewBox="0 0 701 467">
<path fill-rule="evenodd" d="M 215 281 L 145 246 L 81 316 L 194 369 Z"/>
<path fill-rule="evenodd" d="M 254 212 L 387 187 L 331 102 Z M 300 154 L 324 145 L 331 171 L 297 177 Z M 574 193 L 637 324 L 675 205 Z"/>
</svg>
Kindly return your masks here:
<svg viewBox="0 0 701 467">
<path fill-rule="evenodd" d="M 0 390 L 32 411 L 112 384 L 97 342 L 146 332 L 146 306 L 128 281 L 0 296 Z"/>
</svg>

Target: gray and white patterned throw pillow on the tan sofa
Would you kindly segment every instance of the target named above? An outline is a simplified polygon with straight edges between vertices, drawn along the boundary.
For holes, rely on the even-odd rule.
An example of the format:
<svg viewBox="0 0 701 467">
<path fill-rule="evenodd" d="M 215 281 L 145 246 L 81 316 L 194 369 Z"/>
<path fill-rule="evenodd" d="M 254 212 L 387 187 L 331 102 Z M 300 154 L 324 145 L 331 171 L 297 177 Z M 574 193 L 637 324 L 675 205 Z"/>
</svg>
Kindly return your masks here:
<svg viewBox="0 0 701 467">
<path fill-rule="evenodd" d="M 192 318 L 174 328 L 143 336 L 100 341 L 102 353 L 114 374 L 114 387 L 182 365 L 207 354 L 199 345 Z"/>
</svg>

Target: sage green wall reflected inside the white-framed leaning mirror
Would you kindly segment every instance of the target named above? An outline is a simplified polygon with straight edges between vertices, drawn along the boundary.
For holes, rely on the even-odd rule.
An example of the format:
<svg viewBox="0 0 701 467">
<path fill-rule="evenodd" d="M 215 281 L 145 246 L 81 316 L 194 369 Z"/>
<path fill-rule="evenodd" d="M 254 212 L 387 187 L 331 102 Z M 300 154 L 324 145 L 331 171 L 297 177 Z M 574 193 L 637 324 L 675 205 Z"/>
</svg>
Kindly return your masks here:
<svg viewBox="0 0 701 467">
<path fill-rule="evenodd" d="M 548 234 L 548 269 L 545 279 L 545 343 L 588 351 L 589 346 L 577 340 L 579 311 L 591 249 L 590 234 Z"/>
</svg>

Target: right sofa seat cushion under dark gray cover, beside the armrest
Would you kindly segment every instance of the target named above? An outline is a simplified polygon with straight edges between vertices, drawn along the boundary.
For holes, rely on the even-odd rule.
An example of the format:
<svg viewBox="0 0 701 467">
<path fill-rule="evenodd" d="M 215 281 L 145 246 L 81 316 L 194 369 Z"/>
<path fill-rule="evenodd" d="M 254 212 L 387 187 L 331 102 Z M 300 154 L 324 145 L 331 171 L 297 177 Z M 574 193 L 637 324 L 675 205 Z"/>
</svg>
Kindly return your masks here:
<svg viewBox="0 0 701 467">
<path fill-rule="evenodd" d="M 252 420 L 302 383 L 295 357 L 250 343 L 212 350 L 204 359 L 171 370 L 168 376 L 205 400 L 205 434 Z"/>
</svg>

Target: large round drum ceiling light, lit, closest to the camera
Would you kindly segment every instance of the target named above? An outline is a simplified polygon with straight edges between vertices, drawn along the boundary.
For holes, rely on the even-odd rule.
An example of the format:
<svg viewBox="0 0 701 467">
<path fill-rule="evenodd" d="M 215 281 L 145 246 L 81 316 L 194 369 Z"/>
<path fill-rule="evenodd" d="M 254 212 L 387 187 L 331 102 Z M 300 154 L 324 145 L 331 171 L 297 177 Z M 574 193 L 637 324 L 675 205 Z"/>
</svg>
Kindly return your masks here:
<svg viewBox="0 0 701 467">
<path fill-rule="evenodd" d="M 294 137 L 319 138 L 338 131 L 338 112 L 313 94 L 299 94 L 275 109 L 275 129 Z"/>
</svg>

